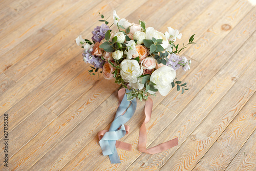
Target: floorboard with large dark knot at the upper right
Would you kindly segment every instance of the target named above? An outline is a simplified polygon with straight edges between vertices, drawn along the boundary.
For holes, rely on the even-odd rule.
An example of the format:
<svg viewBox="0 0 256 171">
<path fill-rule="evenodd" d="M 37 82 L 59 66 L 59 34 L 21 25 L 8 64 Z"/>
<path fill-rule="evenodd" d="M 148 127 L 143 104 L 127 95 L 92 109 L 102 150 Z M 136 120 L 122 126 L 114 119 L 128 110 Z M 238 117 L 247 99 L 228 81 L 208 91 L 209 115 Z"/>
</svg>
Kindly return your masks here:
<svg viewBox="0 0 256 171">
<path fill-rule="evenodd" d="M 232 8 L 225 13 L 222 19 L 218 20 L 217 23 L 209 28 L 202 36 L 197 37 L 197 45 L 189 48 L 185 54 L 201 62 L 252 8 L 253 6 L 250 2 L 238 1 L 238 3 L 234 4 Z"/>
</svg>

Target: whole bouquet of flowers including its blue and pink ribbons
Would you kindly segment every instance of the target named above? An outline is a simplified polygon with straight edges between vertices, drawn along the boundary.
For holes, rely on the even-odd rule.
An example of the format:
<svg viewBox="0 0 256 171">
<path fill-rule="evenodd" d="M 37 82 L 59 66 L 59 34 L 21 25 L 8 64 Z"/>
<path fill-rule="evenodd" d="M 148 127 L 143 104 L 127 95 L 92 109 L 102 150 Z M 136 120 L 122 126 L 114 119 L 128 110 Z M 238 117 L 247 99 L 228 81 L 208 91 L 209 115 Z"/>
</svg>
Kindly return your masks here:
<svg viewBox="0 0 256 171">
<path fill-rule="evenodd" d="M 99 13 L 100 14 L 100 13 Z M 168 27 L 168 31 L 161 33 L 153 27 L 145 27 L 145 22 L 139 24 L 129 23 L 125 18 L 120 19 L 113 12 L 114 23 L 109 22 L 100 14 L 103 22 L 92 31 L 92 41 L 83 39 L 81 35 L 76 38 L 78 46 L 83 48 L 83 60 L 93 65 L 90 74 L 102 73 L 105 79 L 115 79 L 124 89 L 119 90 L 119 106 L 114 121 L 109 130 L 98 133 L 99 144 L 104 156 L 109 155 L 111 163 L 120 163 L 116 147 L 131 151 L 132 145 L 118 141 L 129 132 L 129 126 L 124 125 L 135 113 L 136 98 L 146 100 L 144 112 L 145 119 L 140 127 L 138 150 L 140 152 L 155 154 L 178 145 L 178 137 L 146 149 L 146 127 L 150 120 L 153 101 L 149 95 L 159 92 L 166 96 L 177 86 L 178 91 L 188 90 L 186 83 L 174 81 L 176 71 L 190 69 L 190 60 L 178 54 L 193 42 L 194 35 L 189 38 L 187 45 L 178 49 L 175 45 L 177 38 L 182 34 L 178 30 Z M 116 30 L 110 28 L 115 25 Z M 102 69 L 102 71 L 99 71 Z"/>
</svg>

